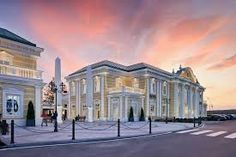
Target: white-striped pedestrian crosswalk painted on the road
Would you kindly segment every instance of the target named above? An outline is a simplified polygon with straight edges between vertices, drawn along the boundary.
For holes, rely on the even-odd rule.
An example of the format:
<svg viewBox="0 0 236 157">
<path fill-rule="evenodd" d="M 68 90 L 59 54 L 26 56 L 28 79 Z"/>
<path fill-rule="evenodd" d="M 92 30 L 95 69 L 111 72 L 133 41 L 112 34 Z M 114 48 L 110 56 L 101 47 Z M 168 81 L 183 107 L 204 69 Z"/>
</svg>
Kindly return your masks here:
<svg viewBox="0 0 236 157">
<path fill-rule="evenodd" d="M 218 137 L 222 136 L 226 139 L 236 139 L 236 132 L 234 133 L 229 133 L 225 130 L 222 131 L 214 131 L 214 130 L 204 130 L 204 129 L 191 129 L 191 130 L 184 130 L 184 131 L 179 131 L 176 132 L 177 134 L 190 134 L 190 135 L 204 135 L 207 137 Z"/>
</svg>

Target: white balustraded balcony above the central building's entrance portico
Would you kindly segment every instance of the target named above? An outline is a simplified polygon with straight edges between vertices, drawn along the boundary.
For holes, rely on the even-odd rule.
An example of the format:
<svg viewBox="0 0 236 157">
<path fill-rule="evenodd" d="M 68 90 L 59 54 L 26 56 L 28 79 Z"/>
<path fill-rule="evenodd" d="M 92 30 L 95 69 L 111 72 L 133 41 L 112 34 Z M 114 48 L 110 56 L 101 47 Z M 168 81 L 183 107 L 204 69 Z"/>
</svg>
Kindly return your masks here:
<svg viewBox="0 0 236 157">
<path fill-rule="evenodd" d="M 121 86 L 121 87 L 114 87 L 108 89 L 109 94 L 112 93 L 134 93 L 134 94 L 144 94 L 145 90 L 140 88 L 134 88 L 134 87 L 127 87 L 127 86 Z"/>
</svg>

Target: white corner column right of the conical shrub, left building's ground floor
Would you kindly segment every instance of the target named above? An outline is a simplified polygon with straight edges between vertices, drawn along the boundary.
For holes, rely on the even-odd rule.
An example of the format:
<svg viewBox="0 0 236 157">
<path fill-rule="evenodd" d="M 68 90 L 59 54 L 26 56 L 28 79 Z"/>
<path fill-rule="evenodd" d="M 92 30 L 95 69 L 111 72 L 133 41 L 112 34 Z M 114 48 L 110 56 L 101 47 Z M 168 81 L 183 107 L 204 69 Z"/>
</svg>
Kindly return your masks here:
<svg viewBox="0 0 236 157">
<path fill-rule="evenodd" d="M 35 124 L 41 125 L 41 100 L 42 100 L 42 87 L 35 86 Z"/>
</svg>

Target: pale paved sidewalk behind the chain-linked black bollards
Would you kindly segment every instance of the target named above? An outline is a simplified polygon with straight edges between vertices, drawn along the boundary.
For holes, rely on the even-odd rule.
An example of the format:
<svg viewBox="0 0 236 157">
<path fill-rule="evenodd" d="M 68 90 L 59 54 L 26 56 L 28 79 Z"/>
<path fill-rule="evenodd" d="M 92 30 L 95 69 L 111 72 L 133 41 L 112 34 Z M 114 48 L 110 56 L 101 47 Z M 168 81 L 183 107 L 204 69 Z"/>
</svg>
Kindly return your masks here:
<svg viewBox="0 0 236 157">
<path fill-rule="evenodd" d="M 192 123 L 168 123 L 152 122 L 152 134 L 166 133 L 190 129 Z M 53 132 L 53 124 L 49 126 L 21 127 L 15 126 L 15 145 L 27 145 L 37 143 L 57 143 L 72 141 L 72 122 L 65 122 L 58 126 L 58 132 Z M 78 141 L 112 139 L 117 138 L 117 122 L 76 122 L 75 139 Z M 120 123 L 120 136 L 141 136 L 149 134 L 149 122 L 125 122 Z M 10 134 L 1 135 L 0 139 L 10 146 Z"/>
</svg>

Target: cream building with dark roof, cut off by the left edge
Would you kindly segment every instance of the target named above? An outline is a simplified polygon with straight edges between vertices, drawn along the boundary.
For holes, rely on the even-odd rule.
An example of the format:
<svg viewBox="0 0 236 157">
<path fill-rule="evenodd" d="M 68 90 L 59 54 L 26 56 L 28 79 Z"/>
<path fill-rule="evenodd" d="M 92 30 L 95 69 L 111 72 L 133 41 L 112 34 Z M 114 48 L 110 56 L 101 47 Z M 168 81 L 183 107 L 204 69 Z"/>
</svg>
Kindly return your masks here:
<svg viewBox="0 0 236 157">
<path fill-rule="evenodd" d="M 0 28 L 0 116 L 9 123 L 25 125 L 29 101 L 41 123 L 41 93 L 44 85 L 37 60 L 43 49 Z"/>
</svg>

